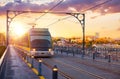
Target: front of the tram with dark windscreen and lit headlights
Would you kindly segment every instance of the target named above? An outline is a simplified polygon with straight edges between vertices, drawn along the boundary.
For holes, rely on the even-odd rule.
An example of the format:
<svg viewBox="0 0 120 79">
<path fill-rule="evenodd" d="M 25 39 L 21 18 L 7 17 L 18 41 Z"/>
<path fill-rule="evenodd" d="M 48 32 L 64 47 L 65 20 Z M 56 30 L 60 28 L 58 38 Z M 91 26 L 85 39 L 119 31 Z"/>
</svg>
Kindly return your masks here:
<svg viewBox="0 0 120 79">
<path fill-rule="evenodd" d="M 47 28 L 31 28 L 28 39 L 32 56 L 50 57 L 54 55 L 51 34 Z"/>
</svg>

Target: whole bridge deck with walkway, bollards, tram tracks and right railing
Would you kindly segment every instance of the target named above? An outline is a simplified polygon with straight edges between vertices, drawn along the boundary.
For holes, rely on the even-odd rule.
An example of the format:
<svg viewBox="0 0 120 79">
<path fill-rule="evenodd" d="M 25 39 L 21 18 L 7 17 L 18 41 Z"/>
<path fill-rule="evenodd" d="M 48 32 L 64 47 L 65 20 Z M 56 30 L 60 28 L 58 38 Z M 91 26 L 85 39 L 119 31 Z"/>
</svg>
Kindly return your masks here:
<svg viewBox="0 0 120 79">
<path fill-rule="evenodd" d="M 76 49 L 74 47 L 74 49 Z M 34 58 L 10 45 L 1 61 L 0 79 L 119 79 L 120 60 L 71 52 L 56 46 L 55 56 Z M 78 50 L 80 51 L 80 50 Z M 73 53 L 74 52 L 74 53 Z M 119 51 L 118 51 L 119 52 Z M 54 69 L 55 68 L 55 69 Z"/>
</svg>

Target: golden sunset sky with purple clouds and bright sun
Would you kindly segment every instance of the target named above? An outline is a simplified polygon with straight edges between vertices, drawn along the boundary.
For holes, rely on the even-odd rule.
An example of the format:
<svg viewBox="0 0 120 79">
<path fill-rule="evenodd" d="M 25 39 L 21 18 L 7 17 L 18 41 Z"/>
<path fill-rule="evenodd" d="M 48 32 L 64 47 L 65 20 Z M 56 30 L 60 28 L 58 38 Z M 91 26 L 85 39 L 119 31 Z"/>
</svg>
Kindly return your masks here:
<svg viewBox="0 0 120 79">
<path fill-rule="evenodd" d="M 84 13 L 86 36 L 99 33 L 120 39 L 120 0 L 0 0 L 1 32 L 6 31 L 6 10 Z M 75 17 L 52 13 L 20 14 L 12 20 L 10 33 L 22 34 L 33 25 L 49 28 L 53 37 L 82 37 L 82 26 Z"/>
</svg>

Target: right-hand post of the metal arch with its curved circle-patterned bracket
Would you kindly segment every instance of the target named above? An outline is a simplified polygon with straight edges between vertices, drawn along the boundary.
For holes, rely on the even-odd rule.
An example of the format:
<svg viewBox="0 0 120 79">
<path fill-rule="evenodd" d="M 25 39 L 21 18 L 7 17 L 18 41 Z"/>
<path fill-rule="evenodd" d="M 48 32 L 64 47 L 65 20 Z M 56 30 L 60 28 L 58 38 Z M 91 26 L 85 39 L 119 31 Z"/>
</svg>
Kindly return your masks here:
<svg viewBox="0 0 120 79">
<path fill-rule="evenodd" d="M 83 13 L 66 13 L 74 16 L 82 26 L 82 58 L 85 55 L 85 14 Z"/>
</svg>

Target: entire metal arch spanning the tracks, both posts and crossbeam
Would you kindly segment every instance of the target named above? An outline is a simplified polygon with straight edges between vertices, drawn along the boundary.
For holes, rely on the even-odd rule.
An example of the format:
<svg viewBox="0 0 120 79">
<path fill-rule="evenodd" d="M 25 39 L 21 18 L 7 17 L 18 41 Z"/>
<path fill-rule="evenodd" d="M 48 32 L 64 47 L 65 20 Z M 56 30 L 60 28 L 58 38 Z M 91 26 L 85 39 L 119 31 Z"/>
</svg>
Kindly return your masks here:
<svg viewBox="0 0 120 79">
<path fill-rule="evenodd" d="M 85 54 L 85 14 L 84 13 L 69 13 L 69 12 L 43 12 L 43 11 L 16 11 L 16 10 L 7 10 L 6 16 L 6 45 L 9 45 L 9 28 L 12 20 L 23 13 L 51 13 L 51 14 L 67 14 L 75 17 L 79 23 L 82 26 L 82 33 L 83 33 L 83 54 L 82 57 L 84 57 Z M 12 16 L 11 16 L 12 14 Z"/>
</svg>

